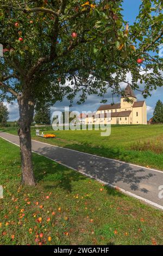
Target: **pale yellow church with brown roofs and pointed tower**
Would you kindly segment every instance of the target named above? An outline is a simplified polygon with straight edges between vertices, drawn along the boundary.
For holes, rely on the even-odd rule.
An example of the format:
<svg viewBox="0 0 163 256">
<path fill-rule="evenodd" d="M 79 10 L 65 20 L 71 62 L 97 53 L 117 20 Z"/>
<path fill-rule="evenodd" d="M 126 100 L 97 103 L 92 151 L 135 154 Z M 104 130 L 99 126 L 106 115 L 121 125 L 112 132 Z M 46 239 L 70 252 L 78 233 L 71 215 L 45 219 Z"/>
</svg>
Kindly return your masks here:
<svg viewBox="0 0 163 256">
<path fill-rule="evenodd" d="M 124 90 L 125 97 L 121 102 L 101 105 L 96 114 L 86 116 L 86 124 L 147 124 L 147 107 L 145 101 L 137 101 L 133 90 L 128 85 Z M 131 100 L 128 102 L 126 97 Z M 110 113 L 111 120 L 107 113 Z"/>
</svg>

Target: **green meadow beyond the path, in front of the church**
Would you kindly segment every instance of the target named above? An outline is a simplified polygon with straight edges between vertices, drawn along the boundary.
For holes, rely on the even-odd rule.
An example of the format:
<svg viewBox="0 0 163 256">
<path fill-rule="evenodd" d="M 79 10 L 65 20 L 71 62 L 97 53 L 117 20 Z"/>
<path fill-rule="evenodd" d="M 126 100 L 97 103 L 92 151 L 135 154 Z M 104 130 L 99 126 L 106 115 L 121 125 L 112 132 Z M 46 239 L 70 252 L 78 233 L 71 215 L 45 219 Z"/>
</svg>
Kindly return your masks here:
<svg viewBox="0 0 163 256">
<path fill-rule="evenodd" d="M 54 133 L 57 139 L 32 138 L 49 144 L 83 151 L 163 170 L 163 125 L 111 126 L 111 135 L 101 137 L 101 131 L 54 131 L 42 128 L 44 133 Z M 2 129 L 1 129 L 2 130 Z M 17 134 L 17 129 L 4 131 Z"/>
</svg>

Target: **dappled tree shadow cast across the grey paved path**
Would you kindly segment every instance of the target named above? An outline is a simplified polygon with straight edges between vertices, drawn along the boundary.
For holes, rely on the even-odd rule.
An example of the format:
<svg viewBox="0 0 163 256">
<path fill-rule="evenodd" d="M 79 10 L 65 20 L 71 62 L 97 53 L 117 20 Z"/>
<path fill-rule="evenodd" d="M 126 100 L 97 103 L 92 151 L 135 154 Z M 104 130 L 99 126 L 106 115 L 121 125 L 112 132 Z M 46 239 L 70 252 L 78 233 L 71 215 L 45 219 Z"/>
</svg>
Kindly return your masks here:
<svg viewBox="0 0 163 256">
<path fill-rule="evenodd" d="M 43 146 L 43 144 L 43 147 L 40 147 L 40 144 L 38 145 L 36 149 L 37 153 L 66 164 L 97 180 L 103 180 L 117 187 L 125 187 L 128 191 L 141 191 L 143 194 L 147 194 L 149 188 L 146 184 L 155 176 L 150 170 L 131 166 L 128 163 L 100 158 L 89 154 L 81 154 L 80 152 L 66 148 L 52 147 L 51 145 Z M 67 178 L 67 181 L 62 179 L 65 183 L 65 187 L 66 182 L 71 184 L 71 179 L 77 180 L 81 178 L 72 172 L 70 179 Z"/>
</svg>

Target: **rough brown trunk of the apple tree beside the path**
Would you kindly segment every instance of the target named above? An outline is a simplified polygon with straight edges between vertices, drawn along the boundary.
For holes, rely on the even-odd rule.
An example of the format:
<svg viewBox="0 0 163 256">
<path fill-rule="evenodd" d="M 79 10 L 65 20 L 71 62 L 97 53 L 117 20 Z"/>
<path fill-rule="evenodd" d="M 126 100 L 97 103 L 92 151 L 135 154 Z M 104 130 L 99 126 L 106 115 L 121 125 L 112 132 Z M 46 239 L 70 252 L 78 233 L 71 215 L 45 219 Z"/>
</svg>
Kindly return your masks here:
<svg viewBox="0 0 163 256">
<path fill-rule="evenodd" d="M 18 136 L 20 138 L 22 184 L 35 186 L 35 177 L 32 163 L 32 143 L 30 135 L 30 125 L 34 116 L 34 103 L 30 100 L 19 98 L 18 107 L 20 119 L 18 120 Z"/>
</svg>

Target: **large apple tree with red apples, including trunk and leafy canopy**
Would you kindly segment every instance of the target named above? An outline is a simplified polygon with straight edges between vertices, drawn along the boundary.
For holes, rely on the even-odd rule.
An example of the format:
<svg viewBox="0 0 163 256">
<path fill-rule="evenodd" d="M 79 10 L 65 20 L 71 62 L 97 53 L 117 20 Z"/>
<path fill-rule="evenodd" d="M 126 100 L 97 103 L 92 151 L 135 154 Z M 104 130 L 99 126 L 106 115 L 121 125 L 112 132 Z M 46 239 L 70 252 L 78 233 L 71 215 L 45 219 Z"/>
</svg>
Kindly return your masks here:
<svg viewBox="0 0 163 256">
<path fill-rule="evenodd" d="M 30 124 L 35 105 L 67 95 L 121 93 L 131 73 L 145 97 L 162 86 L 162 0 L 143 0 L 134 25 L 118 0 L 0 0 L 0 100 L 20 111 L 22 184 L 35 185 Z M 67 82 L 69 81 L 69 82 Z M 141 85 L 142 84 L 142 85 Z"/>
</svg>

